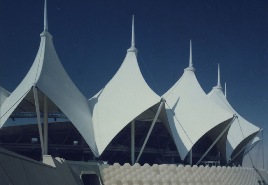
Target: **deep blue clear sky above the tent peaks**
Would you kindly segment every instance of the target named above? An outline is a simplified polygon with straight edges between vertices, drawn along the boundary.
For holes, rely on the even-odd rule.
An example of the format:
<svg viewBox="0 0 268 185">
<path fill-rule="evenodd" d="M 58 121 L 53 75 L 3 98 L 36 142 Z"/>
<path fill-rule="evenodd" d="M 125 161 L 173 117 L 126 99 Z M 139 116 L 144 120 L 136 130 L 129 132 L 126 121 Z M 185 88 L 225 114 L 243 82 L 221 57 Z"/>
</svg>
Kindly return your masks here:
<svg viewBox="0 0 268 185">
<path fill-rule="evenodd" d="M 0 82 L 10 92 L 35 59 L 43 10 L 43 1 L 1 1 Z M 105 86 L 123 62 L 134 14 L 138 63 L 157 94 L 181 77 L 192 39 L 203 90 L 217 85 L 220 63 L 227 100 L 267 135 L 267 1 L 47 0 L 47 11 L 59 59 L 85 97 Z"/>
</svg>

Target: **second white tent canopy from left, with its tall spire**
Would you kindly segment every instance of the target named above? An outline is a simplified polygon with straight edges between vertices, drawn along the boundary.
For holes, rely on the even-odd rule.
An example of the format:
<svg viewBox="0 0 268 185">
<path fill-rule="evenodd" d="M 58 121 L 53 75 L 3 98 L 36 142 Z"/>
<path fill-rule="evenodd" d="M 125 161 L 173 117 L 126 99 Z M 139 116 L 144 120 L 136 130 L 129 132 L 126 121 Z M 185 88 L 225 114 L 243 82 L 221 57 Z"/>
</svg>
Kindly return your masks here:
<svg viewBox="0 0 268 185">
<path fill-rule="evenodd" d="M 134 16 L 131 45 L 113 78 L 89 100 L 93 124 L 97 125 L 94 133 L 100 154 L 129 122 L 161 100 L 147 85 L 139 69 Z"/>
</svg>

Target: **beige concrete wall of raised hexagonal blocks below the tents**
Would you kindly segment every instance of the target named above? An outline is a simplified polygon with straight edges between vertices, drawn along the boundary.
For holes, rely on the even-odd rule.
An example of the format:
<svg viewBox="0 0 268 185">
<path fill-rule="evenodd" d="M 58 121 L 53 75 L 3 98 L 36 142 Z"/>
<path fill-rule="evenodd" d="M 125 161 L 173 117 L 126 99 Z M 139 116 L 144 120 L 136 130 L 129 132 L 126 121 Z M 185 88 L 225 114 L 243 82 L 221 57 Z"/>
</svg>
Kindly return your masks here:
<svg viewBox="0 0 268 185">
<path fill-rule="evenodd" d="M 105 185 L 259 185 L 268 182 L 265 170 L 242 167 L 204 167 L 193 165 L 144 164 L 133 166 L 129 163 L 120 166 L 102 165 L 102 178 Z M 258 174 L 262 174 L 263 178 Z M 263 182 L 263 180 L 265 180 Z"/>
</svg>

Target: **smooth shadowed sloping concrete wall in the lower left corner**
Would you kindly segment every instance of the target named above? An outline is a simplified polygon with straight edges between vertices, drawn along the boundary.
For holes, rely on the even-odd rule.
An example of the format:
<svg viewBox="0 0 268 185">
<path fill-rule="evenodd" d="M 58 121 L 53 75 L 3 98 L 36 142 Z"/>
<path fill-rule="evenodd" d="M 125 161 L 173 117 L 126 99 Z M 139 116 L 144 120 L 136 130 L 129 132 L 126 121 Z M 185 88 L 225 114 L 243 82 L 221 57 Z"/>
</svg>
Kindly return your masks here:
<svg viewBox="0 0 268 185">
<path fill-rule="evenodd" d="M 0 153 L 1 185 L 76 184 L 64 159 L 44 156 L 43 162 L 38 162 L 3 148 Z"/>
</svg>

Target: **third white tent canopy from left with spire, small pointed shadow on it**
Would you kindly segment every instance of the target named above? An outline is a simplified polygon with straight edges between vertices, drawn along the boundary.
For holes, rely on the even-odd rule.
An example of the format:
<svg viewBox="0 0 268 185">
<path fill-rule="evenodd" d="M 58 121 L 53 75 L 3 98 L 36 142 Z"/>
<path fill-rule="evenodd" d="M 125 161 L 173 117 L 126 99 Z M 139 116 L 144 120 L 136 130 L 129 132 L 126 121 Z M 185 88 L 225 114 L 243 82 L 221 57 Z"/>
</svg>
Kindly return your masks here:
<svg viewBox="0 0 268 185">
<path fill-rule="evenodd" d="M 190 44 L 189 67 L 184 69 L 181 78 L 163 95 L 169 125 L 182 160 L 204 134 L 221 123 L 227 126 L 233 118 L 232 113 L 221 109 L 206 96 L 194 71 Z M 221 131 L 215 129 L 215 136 Z"/>
</svg>

